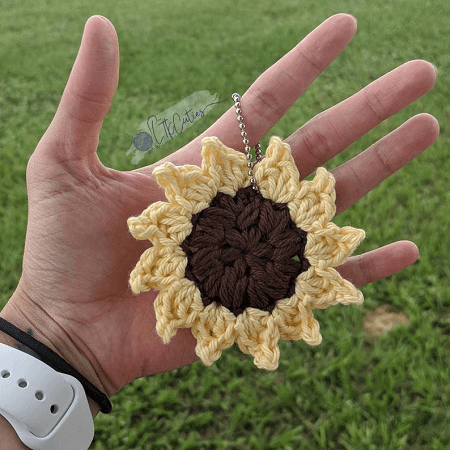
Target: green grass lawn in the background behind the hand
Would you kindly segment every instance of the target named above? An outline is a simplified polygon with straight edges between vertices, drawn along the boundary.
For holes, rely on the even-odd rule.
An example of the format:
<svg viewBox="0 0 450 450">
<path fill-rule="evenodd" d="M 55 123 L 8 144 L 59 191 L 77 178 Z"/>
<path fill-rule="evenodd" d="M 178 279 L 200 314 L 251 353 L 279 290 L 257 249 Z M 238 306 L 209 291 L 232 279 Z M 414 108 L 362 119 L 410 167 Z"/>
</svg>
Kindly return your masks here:
<svg viewBox="0 0 450 450">
<path fill-rule="evenodd" d="M 280 342 L 276 372 L 235 347 L 213 366 L 200 362 L 136 380 L 96 419 L 92 449 L 444 450 L 450 447 L 450 3 L 447 0 L 238 2 L 0 1 L 0 306 L 20 277 L 26 229 L 27 160 L 50 123 L 86 19 L 103 14 L 121 49 L 119 88 L 99 157 L 131 170 L 130 135 L 150 114 L 198 90 L 228 100 L 172 142 L 182 147 L 252 81 L 327 17 L 358 18 L 358 32 L 267 134 L 287 137 L 315 114 L 411 59 L 439 69 L 427 96 L 337 156 L 341 164 L 420 112 L 441 124 L 439 140 L 386 180 L 338 225 L 367 230 L 359 251 L 408 239 L 421 250 L 402 273 L 365 286 L 361 307 L 315 311 L 323 343 Z M 406 326 L 371 340 L 365 314 L 393 305 Z"/>
</svg>

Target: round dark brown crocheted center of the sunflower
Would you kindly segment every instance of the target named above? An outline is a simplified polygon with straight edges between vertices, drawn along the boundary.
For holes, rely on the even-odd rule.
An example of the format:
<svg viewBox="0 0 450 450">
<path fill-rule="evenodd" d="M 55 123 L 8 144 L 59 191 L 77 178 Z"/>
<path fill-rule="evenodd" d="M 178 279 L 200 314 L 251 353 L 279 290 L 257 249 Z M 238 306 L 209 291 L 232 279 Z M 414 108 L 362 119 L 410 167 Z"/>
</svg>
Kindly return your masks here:
<svg viewBox="0 0 450 450">
<path fill-rule="evenodd" d="M 296 278 L 310 266 L 303 256 L 306 231 L 297 228 L 288 205 L 251 186 L 235 197 L 217 193 L 191 222 L 192 232 L 181 243 L 185 277 L 196 284 L 205 307 L 218 302 L 235 316 L 248 307 L 272 312 L 278 300 L 294 294 Z"/>
</svg>

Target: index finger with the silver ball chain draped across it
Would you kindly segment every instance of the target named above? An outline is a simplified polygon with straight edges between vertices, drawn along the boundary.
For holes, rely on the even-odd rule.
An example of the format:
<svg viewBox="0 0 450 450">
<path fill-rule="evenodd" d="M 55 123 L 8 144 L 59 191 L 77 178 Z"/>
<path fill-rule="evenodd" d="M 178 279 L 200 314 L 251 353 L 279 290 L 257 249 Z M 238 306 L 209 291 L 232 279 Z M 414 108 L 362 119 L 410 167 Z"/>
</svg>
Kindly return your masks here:
<svg viewBox="0 0 450 450">
<path fill-rule="evenodd" d="M 251 147 L 284 116 L 308 86 L 344 50 L 356 33 L 356 24 L 356 19 L 349 14 L 336 14 L 328 18 L 263 72 L 242 95 L 241 108 Z M 236 87 L 236 90 L 239 88 Z M 151 173 L 155 166 L 167 161 L 175 165 L 189 163 L 201 166 L 201 140 L 206 136 L 217 136 L 226 146 L 244 151 L 236 113 L 231 106 L 189 144 L 157 163 L 136 171 Z"/>
</svg>

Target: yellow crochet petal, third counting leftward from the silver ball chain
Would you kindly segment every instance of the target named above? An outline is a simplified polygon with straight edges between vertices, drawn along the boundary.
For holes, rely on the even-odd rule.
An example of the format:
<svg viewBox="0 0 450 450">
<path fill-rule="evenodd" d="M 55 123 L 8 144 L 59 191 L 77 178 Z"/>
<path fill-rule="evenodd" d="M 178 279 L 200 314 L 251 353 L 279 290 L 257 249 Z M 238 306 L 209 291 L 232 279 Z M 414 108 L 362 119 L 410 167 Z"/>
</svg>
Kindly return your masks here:
<svg viewBox="0 0 450 450">
<path fill-rule="evenodd" d="M 192 232 L 191 214 L 180 205 L 152 203 L 141 215 L 127 220 L 131 235 L 153 245 L 179 245 Z"/>
</svg>

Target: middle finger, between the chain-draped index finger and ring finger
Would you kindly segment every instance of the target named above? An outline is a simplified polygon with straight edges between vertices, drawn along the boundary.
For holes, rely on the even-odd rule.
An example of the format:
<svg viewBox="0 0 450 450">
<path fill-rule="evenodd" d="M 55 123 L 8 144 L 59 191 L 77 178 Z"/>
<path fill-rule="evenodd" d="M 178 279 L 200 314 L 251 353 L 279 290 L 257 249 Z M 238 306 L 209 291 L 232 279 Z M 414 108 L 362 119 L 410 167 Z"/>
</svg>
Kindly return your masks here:
<svg viewBox="0 0 450 450">
<path fill-rule="evenodd" d="M 301 178 L 430 91 L 436 75 L 427 61 L 409 61 L 305 123 L 286 139 Z"/>
</svg>

